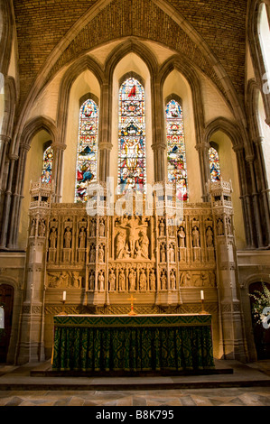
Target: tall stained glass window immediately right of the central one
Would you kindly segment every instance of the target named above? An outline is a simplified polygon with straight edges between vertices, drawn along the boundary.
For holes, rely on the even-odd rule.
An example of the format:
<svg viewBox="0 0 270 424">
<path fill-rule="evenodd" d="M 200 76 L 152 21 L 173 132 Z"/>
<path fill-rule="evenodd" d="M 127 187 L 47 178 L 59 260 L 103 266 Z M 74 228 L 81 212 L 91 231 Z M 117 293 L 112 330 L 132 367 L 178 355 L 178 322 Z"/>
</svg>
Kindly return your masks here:
<svg viewBox="0 0 270 424">
<path fill-rule="evenodd" d="M 177 198 L 187 201 L 188 178 L 182 107 L 172 99 L 166 106 L 168 181 L 176 184 Z"/>
</svg>

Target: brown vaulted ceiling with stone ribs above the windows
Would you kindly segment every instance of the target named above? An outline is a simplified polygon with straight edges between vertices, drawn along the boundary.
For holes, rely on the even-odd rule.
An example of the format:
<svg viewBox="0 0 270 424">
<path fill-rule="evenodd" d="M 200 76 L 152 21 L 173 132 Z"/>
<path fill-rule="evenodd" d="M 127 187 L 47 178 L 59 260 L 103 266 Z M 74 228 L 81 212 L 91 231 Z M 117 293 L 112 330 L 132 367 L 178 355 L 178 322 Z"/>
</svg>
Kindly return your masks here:
<svg viewBox="0 0 270 424">
<path fill-rule="evenodd" d="M 83 53 L 128 36 L 188 58 L 226 96 L 216 61 L 242 97 L 246 14 L 247 0 L 14 0 L 21 105 L 41 72 L 49 80 Z"/>
</svg>

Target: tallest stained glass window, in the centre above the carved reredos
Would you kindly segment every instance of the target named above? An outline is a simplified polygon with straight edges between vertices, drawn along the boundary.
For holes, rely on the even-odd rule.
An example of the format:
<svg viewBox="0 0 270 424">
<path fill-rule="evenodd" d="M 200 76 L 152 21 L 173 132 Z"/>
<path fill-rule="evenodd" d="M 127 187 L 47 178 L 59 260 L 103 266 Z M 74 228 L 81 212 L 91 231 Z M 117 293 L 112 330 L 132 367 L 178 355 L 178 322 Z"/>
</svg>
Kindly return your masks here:
<svg viewBox="0 0 270 424">
<path fill-rule="evenodd" d="M 118 193 L 145 191 L 144 87 L 127 78 L 119 90 Z"/>
</svg>

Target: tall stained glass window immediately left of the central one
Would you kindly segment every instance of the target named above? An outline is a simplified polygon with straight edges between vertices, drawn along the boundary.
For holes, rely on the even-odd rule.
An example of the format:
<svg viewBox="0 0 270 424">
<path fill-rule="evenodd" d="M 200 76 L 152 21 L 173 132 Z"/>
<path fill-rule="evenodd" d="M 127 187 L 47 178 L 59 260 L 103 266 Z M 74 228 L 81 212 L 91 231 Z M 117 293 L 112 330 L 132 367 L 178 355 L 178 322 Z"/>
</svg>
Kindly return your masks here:
<svg viewBox="0 0 270 424">
<path fill-rule="evenodd" d="M 98 105 L 86 100 L 79 109 L 75 202 L 87 201 L 88 181 L 97 180 Z"/>
</svg>

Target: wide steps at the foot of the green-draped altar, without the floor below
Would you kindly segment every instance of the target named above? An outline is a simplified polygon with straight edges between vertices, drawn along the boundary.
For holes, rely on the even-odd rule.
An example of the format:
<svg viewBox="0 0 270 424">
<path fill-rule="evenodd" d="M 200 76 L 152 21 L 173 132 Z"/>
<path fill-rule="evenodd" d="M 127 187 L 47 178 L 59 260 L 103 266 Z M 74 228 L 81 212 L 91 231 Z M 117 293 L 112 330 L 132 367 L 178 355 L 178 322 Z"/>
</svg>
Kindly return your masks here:
<svg viewBox="0 0 270 424">
<path fill-rule="evenodd" d="M 0 366 L 0 391 L 128 391 L 181 390 L 222 387 L 270 387 L 270 373 L 237 361 L 216 360 L 216 369 L 190 373 L 144 376 L 94 376 L 54 373 L 51 362 Z"/>
</svg>

